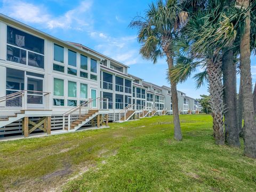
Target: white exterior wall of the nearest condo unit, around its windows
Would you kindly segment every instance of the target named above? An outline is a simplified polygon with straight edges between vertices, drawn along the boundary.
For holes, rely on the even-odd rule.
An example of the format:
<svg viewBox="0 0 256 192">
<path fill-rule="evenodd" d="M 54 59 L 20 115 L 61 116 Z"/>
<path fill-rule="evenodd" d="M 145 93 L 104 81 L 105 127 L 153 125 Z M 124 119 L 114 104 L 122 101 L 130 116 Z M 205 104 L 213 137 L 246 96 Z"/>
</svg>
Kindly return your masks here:
<svg viewBox="0 0 256 192">
<path fill-rule="evenodd" d="M 43 36 L 38 36 L 38 35 L 35 35 L 35 34 L 31 34 L 33 36 L 36 36 L 36 37 L 39 37 L 41 39 L 44 39 L 44 69 L 42 68 L 37 68 L 37 67 L 33 67 L 33 66 L 28 66 L 28 65 L 23 65 L 21 63 L 16 63 L 16 62 L 12 62 L 12 61 L 7 61 L 6 60 L 6 43 L 7 43 L 7 27 L 6 26 L 11 26 L 15 29 L 18 29 L 18 30 L 21 30 L 21 31 L 24 31 L 25 33 L 27 34 L 31 34 L 31 31 L 27 31 L 26 28 L 20 28 L 20 27 L 17 27 L 17 26 L 13 26 L 13 25 L 10 25 L 9 23 L 5 23 L 5 22 L 0 22 L 0 34 L 1 34 L 1 37 L 0 37 L 0 49 L 1 49 L 1 53 L 0 53 L 0 69 L 1 69 L 1 76 L 0 76 L 0 80 L 1 80 L 1 83 L 0 83 L 0 87 L 2 89 L 0 89 L 0 97 L 4 96 L 6 94 L 6 91 L 5 91 L 5 87 L 6 87 L 6 68 L 11 68 L 11 69 L 17 69 L 17 70 L 21 70 L 21 71 L 27 71 L 27 72 L 31 72 L 31 73 L 36 73 L 36 74 L 41 74 L 41 75 L 44 75 L 44 78 L 43 78 L 43 91 L 44 92 L 50 92 L 52 94 L 50 94 L 50 106 L 52 106 L 52 114 L 62 114 L 64 113 L 65 111 L 73 108 L 73 107 L 69 107 L 67 106 L 67 99 L 75 99 L 77 100 L 77 104 L 79 103 L 79 94 L 80 94 L 80 84 L 83 83 L 83 84 L 87 84 L 87 98 L 91 98 L 91 89 L 95 89 L 97 90 L 97 97 L 100 96 L 100 92 L 99 92 L 99 83 L 100 83 L 100 68 L 99 68 L 99 58 L 96 57 L 95 55 L 90 55 L 90 54 L 87 54 L 83 51 L 79 51 L 79 50 L 76 50 L 75 47 L 68 47 L 66 44 L 64 43 L 61 43 L 61 42 L 55 42 L 55 41 L 52 41 L 51 39 L 47 39 Z M 60 45 L 60 46 L 63 46 L 64 47 L 64 62 L 63 63 L 59 63 L 59 62 L 56 62 L 53 60 L 53 45 L 54 43 Z M 12 45 L 12 47 L 15 47 Z M 18 49 L 22 49 L 22 48 L 19 48 L 17 47 Z M 69 50 L 72 50 L 72 51 L 75 51 L 77 54 L 76 54 L 76 57 L 77 57 L 77 63 L 76 63 L 76 67 L 71 67 L 71 66 L 68 66 L 68 49 Z M 85 79 L 83 77 L 80 77 L 79 76 L 79 71 L 80 71 L 80 54 L 83 54 L 85 56 L 87 56 L 88 58 L 88 70 L 87 70 L 87 73 L 88 73 L 88 78 Z M 97 60 L 97 75 L 98 76 L 98 79 L 97 81 L 94 81 L 94 80 L 91 80 L 90 79 L 90 61 L 91 61 L 91 58 L 92 59 L 95 59 Z M 27 62 L 27 61 L 26 61 Z M 65 73 L 62 73 L 62 72 L 59 72 L 59 71 L 54 71 L 53 70 L 53 63 L 57 63 L 63 67 L 65 67 Z M 77 70 L 77 75 L 70 75 L 70 74 L 67 74 L 67 68 L 70 67 L 70 68 L 74 68 Z M 53 79 L 54 78 L 59 78 L 59 79 L 63 79 L 64 80 L 64 97 L 54 97 L 53 95 Z M 26 79 L 26 78 L 25 78 Z M 77 83 L 77 90 L 76 90 L 76 98 L 68 98 L 67 96 L 67 90 L 68 90 L 68 81 L 72 81 L 72 82 L 76 82 Z M 26 80 L 25 80 L 25 84 L 26 84 Z M 65 99 L 65 106 L 53 106 L 53 98 L 60 98 L 60 99 Z M 3 103 L 1 103 L 1 105 L 3 105 Z"/>
</svg>

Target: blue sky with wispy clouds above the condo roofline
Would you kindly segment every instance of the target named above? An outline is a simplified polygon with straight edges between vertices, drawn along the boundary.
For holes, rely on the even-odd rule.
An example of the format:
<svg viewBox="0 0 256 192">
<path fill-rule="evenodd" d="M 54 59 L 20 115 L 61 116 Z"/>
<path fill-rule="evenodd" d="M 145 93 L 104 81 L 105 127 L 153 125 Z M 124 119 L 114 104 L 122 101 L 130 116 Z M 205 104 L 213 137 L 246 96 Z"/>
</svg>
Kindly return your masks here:
<svg viewBox="0 0 256 192">
<path fill-rule="evenodd" d="M 129 73 L 157 85 L 169 86 L 167 64 L 143 60 L 139 55 L 137 31 L 128 27 L 137 14 L 143 14 L 151 0 L 4 0 L 0 12 L 64 41 L 84 44 L 91 49 L 129 65 Z M 256 57 L 252 57 L 253 82 L 256 81 Z M 237 79 L 239 83 L 239 77 Z M 207 87 L 195 89 L 189 78 L 178 84 L 178 90 L 190 97 L 208 94 Z"/>
</svg>

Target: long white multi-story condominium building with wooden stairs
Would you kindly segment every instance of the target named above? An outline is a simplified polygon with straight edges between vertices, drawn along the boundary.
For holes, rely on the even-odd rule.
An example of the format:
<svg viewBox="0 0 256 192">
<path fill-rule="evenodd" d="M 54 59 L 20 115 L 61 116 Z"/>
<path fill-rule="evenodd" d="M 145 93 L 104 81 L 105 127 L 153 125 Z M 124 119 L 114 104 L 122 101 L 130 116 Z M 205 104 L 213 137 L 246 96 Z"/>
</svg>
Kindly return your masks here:
<svg viewBox="0 0 256 192">
<path fill-rule="evenodd" d="M 128 66 L 82 44 L 2 14 L 0 40 L 0 137 L 76 131 L 172 111 L 169 87 L 143 82 L 128 74 Z M 180 110 L 189 110 L 186 94 L 178 93 Z"/>
</svg>

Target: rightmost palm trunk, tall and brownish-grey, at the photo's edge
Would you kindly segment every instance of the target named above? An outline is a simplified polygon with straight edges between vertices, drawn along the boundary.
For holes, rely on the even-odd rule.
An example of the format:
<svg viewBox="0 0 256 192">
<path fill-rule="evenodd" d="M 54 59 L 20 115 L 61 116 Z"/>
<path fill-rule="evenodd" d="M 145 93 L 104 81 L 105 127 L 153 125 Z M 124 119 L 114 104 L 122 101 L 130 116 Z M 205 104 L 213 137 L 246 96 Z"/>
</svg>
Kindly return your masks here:
<svg viewBox="0 0 256 192">
<path fill-rule="evenodd" d="M 249 0 L 237 0 L 238 5 L 247 9 Z M 251 75 L 251 51 L 250 51 L 250 10 L 246 13 L 244 32 L 241 34 L 240 43 L 240 69 L 243 89 L 244 109 L 244 154 L 256 158 L 256 124 L 254 119 L 253 96 L 252 96 L 252 75 Z"/>
</svg>

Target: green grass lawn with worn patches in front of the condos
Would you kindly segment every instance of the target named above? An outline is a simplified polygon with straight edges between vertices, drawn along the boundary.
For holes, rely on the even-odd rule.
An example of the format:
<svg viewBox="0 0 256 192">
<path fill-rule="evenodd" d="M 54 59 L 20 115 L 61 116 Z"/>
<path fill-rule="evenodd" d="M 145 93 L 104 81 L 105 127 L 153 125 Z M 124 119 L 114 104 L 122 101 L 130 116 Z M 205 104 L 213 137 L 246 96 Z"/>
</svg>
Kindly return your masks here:
<svg viewBox="0 0 256 192">
<path fill-rule="evenodd" d="M 214 145 L 209 115 L 180 120 L 180 142 L 172 116 L 0 142 L 0 191 L 255 191 L 255 159 Z"/>
</svg>

